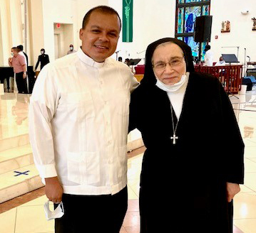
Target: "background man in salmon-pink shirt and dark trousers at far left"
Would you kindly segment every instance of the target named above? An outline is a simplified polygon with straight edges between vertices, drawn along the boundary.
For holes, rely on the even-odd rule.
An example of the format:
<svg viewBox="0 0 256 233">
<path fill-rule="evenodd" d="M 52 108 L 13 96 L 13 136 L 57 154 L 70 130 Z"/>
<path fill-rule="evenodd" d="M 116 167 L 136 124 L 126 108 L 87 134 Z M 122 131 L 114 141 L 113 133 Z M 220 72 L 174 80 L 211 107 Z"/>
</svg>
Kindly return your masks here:
<svg viewBox="0 0 256 233">
<path fill-rule="evenodd" d="M 11 67 L 14 67 L 15 80 L 19 93 L 28 93 L 26 87 L 26 62 L 25 58 L 19 54 L 20 50 L 16 47 L 11 48 L 11 53 L 14 54 L 9 58 L 8 62 Z"/>
</svg>

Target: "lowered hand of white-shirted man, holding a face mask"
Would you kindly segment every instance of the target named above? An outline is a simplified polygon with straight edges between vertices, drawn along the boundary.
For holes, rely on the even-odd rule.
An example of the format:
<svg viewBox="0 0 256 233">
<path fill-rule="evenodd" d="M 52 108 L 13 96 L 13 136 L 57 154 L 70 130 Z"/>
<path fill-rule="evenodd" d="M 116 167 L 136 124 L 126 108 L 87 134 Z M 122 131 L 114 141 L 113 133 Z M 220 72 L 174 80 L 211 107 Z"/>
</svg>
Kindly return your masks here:
<svg viewBox="0 0 256 233">
<path fill-rule="evenodd" d="M 58 177 L 46 178 L 46 197 L 53 203 L 59 203 L 62 200 L 63 188 L 58 181 Z"/>
</svg>

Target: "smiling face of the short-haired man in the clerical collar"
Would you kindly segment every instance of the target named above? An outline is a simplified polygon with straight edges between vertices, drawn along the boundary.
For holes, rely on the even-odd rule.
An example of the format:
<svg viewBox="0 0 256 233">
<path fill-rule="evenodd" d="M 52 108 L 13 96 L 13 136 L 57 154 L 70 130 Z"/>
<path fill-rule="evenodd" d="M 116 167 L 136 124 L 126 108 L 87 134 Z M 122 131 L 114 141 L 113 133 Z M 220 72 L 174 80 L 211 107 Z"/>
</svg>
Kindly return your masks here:
<svg viewBox="0 0 256 233">
<path fill-rule="evenodd" d="M 120 26 L 116 14 L 93 11 L 86 28 L 80 30 L 83 53 L 98 63 L 110 57 L 116 51 Z"/>
</svg>

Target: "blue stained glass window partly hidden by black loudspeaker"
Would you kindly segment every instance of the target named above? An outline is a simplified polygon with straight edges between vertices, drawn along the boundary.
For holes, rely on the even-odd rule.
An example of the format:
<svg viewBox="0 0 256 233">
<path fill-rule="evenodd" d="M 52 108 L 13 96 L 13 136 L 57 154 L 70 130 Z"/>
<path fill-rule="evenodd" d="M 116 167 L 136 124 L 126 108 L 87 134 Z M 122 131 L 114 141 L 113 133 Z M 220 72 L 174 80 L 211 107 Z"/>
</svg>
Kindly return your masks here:
<svg viewBox="0 0 256 233">
<path fill-rule="evenodd" d="M 194 57 L 204 58 L 206 43 L 194 41 L 195 18 L 210 15 L 210 0 L 176 0 L 175 38 L 190 45 Z"/>
</svg>

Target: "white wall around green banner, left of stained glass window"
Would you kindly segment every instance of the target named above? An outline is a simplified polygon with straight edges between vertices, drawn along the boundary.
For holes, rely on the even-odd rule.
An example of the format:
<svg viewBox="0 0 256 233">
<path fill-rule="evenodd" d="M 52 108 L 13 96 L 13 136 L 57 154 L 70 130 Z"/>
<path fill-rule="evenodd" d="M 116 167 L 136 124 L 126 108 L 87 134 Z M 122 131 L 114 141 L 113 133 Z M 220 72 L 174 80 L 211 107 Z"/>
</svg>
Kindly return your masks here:
<svg viewBox="0 0 256 233">
<path fill-rule="evenodd" d="M 123 1 L 108 0 L 108 5 L 118 11 L 121 19 Z M 144 58 L 148 45 L 159 38 L 175 35 L 175 0 L 133 1 L 133 42 L 123 43 L 122 32 L 118 42 L 118 57 Z M 140 53 L 140 54 L 138 54 Z M 116 55 L 113 55 L 116 58 Z M 143 63 L 141 61 L 140 63 Z"/>
</svg>

